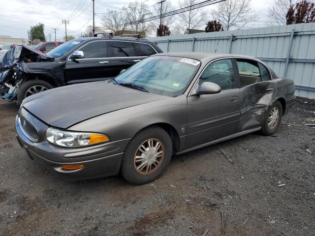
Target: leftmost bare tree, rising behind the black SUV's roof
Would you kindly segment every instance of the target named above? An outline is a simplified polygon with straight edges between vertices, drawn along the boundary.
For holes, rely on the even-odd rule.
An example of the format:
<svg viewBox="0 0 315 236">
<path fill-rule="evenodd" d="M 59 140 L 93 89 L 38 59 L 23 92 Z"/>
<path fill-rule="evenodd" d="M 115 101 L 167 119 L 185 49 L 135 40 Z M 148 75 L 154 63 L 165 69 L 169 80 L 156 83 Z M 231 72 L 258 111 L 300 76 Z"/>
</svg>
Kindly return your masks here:
<svg viewBox="0 0 315 236">
<path fill-rule="evenodd" d="M 115 33 L 116 31 L 126 30 L 126 8 L 120 11 L 108 11 L 102 16 L 103 29 L 108 29 Z"/>
</svg>

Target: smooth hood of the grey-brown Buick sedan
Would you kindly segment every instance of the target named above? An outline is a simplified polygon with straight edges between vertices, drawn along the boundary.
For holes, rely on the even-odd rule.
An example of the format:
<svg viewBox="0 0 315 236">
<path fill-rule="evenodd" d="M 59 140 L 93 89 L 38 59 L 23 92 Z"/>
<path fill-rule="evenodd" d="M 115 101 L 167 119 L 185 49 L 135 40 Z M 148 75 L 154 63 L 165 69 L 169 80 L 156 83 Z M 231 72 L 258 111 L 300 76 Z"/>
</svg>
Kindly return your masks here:
<svg viewBox="0 0 315 236">
<path fill-rule="evenodd" d="M 50 126 L 66 129 L 89 118 L 168 98 L 100 81 L 40 92 L 24 99 L 21 107 Z"/>
</svg>

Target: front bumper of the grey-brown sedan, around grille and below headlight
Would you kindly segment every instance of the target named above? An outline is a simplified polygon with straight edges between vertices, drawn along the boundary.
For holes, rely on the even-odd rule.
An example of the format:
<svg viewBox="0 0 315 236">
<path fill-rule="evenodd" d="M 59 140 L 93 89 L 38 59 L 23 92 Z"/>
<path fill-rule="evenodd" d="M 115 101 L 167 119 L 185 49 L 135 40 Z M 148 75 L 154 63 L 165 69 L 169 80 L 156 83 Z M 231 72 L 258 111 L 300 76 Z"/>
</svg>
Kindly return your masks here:
<svg viewBox="0 0 315 236">
<path fill-rule="evenodd" d="M 22 131 L 18 122 L 18 116 L 32 121 L 32 124 L 39 129 L 39 140 L 31 141 Z M 16 117 L 16 137 L 22 148 L 29 157 L 50 172 L 59 177 L 80 180 L 98 177 L 115 176 L 120 171 L 124 150 L 129 139 L 109 142 L 101 145 L 86 148 L 62 148 L 52 145 L 43 137 L 48 126 L 38 119 L 32 117 L 26 110 L 20 109 Z M 83 165 L 78 170 L 64 170 L 62 165 Z"/>
</svg>

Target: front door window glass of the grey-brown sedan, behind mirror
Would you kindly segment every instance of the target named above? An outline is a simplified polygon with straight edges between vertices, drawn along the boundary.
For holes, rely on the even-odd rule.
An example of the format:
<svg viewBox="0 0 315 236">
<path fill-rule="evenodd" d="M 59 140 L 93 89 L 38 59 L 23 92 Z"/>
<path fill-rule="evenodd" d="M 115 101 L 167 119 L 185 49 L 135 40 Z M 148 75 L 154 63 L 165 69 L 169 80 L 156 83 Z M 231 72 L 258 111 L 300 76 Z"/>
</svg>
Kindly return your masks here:
<svg viewBox="0 0 315 236">
<path fill-rule="evenodd" d="M 236 83 L 231 59 L 212 62 L 200 76 L 199 85 L 203 82 L 215 83 L 222 90 L 235 89 Z"/>
</svg>

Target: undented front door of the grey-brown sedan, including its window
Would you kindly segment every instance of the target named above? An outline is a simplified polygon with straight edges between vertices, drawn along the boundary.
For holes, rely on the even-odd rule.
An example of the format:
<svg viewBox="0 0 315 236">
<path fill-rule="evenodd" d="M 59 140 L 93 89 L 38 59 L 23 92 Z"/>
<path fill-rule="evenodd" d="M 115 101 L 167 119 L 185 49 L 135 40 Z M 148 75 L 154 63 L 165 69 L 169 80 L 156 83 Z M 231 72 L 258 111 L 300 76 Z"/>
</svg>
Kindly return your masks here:
<svg viewBox="0 0 315 236">
<path fill-rule="evenodd" d="M 241 92 L 232 59 L 211 62 L 196 86 L 213 82 L 221 87 L 217 94 L 188 97 L 187 148 L 232 135 L 240 119 Z"/>
</svg>

